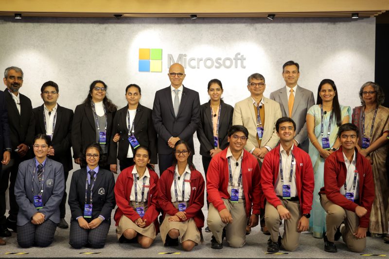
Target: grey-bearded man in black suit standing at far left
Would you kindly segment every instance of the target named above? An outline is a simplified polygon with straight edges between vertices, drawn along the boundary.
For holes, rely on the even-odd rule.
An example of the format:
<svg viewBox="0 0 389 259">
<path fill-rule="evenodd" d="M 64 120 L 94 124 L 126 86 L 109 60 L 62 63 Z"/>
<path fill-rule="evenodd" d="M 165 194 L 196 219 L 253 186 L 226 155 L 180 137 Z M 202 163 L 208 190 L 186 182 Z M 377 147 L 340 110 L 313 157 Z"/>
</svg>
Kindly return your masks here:
<svg viewBox="0 0 389 259">
<path fill-rule="evenodd" d="M 32 144 L 34 138 L 35 120 L 31 100 L 19 93 L 23 84 L 23 71 L 17 67 L 9 67 L 4 71 L 4 99 L 8 108 L 8 124 L 11 137 L 11 165 L 3 168 L 0 178 L 0 225 L 2 228 L 11 228 L 16 232 L 18 217 L 18 204 L 15 199 L 15 182 L 18 175 L 18 167 L 21 161 L 32 157 Z M 9 186 L 9 216 L 5 216 L 5 191 Z M 5 228 L 3 234 L 11 235 Z"/>
</svg>

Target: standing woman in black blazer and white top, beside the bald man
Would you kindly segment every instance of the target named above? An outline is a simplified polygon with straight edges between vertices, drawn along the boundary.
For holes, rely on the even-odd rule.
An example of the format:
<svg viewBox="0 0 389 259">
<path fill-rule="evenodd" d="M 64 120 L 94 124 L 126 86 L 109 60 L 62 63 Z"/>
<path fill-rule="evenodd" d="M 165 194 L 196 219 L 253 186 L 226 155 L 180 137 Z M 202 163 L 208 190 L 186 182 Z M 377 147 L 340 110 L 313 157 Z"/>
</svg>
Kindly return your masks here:
<svg viewBox="0 0 389 259">
<path fill-rule="evenodd" d="M 151 119 L 152 110 L 142 106 L 141 87 L 131 84 L 125 88 L 125 99 L 128 105 L 118 110 L 113 120 L 113 131 L 116 135 L 110 141 L 110 161 L 119 159 L 120 170 L 134 165 L 134 154 L 137 146 L 145 146 L 151 151 L 150 164 L 157 164 L 157 132 Z M 134 138 L 136 141 L 134 141 Z M 130 140 L 132 143 L 130 144 Z M 117 143 L 119 142 L 119 149 Z M 117 151 L 118 150 L 118 151 Z M 116 172 L 116 163 L 111 171 Z"/>
</svg>

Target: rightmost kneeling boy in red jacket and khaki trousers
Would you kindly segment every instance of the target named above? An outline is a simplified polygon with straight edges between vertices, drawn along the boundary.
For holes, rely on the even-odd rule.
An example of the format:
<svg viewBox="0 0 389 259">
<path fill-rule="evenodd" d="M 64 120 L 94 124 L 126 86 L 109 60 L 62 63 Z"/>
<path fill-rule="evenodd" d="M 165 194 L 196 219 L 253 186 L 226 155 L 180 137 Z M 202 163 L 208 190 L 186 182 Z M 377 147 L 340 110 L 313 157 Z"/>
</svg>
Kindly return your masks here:
<svg viewBox="0 0 389 259">
<path fill-rule="evenodd" d="M 341 146 L 324 162 L 324 187 L 320 190 L 320 203 L 327 211 L 324 250 L 336 253 L 334 242 L 342 236 L 351 251 L 360 253 L 366 247 L 374 200 L 372 169 L 355 148 L 359 131 L 354 124 L 341 125 L 337 136 Z"/>
</svg>

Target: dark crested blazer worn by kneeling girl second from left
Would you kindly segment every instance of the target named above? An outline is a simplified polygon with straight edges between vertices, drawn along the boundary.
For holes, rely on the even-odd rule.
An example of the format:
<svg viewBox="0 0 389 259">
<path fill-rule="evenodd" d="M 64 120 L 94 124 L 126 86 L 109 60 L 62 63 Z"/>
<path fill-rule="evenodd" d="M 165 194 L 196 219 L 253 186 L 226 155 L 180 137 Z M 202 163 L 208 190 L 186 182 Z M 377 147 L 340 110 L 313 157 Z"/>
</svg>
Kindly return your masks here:
<svg viewBox="0 0 389 259">
<path fill-rule="evenodd" d="M 75 171 L 71 176 L 68 199 L 68 204 L 71 209 L 71 220 L 76 220 L 77 217 L 84 216 L 86 180 L 86 167 Z M 116 206 L 114 188 L 115 178 L 113 173 L 100 167 L 93 186 L 91 220 L 102 215 L 110 222 L 112 209 Z"/>
</svg>

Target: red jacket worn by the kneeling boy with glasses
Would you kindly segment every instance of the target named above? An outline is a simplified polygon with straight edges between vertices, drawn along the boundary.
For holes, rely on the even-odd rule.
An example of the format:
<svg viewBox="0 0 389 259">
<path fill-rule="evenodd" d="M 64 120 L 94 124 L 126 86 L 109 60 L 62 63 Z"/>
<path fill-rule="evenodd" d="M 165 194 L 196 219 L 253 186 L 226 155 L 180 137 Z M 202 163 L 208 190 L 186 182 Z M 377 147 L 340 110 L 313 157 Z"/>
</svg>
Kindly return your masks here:
<svg viewBox="0 0 389 259">
<path fill-rule="evenodd" d="M 230 199 L 228 185 L 230 173 L 228 159 L 226 158 L 228 148 L 212 157 L 207 172 L 207 193 L 208 201 L 218 210 L 225 209 L 223 199 Z M 261 208 L 262 190 L 260 185 L 261 170 L 258 160 L 248 151 L 243 150 L 242 159 L 242 182 L 243 192 L 246 199 L 246 215 L 259 214 Z"/>
</svg>

